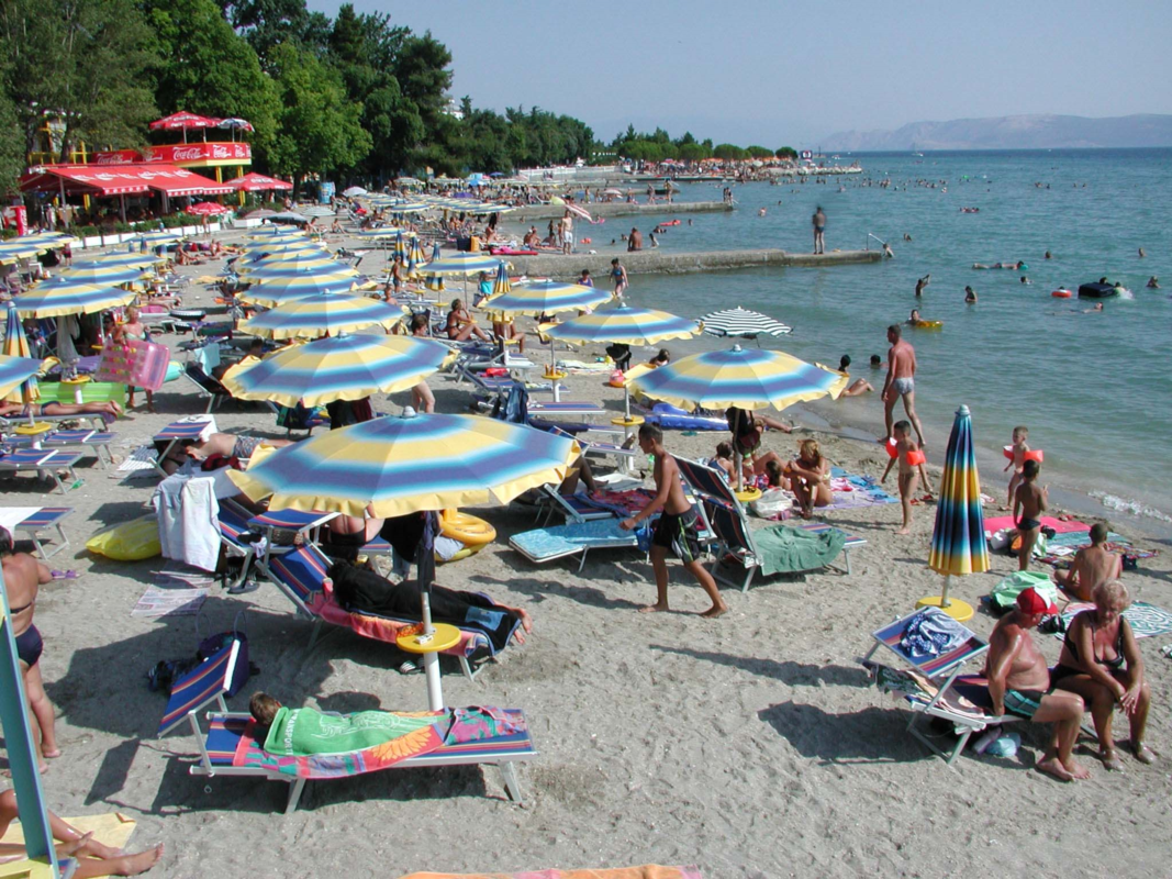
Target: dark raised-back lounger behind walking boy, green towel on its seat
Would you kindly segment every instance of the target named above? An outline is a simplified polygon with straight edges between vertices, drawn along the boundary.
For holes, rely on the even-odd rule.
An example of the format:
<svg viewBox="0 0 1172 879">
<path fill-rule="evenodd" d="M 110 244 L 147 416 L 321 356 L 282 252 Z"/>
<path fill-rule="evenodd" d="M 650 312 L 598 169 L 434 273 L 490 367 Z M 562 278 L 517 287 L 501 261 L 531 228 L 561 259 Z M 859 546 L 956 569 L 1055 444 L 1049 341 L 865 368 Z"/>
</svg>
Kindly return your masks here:
<svg viewBox="0 0 1172 879">
<path fill-rule="evenodd" d="M 680 465 L 680 475 L 683 477 L 684 483 L 688 484 L 695 496 L 702 502 L 701 505 L 718 544 L 716 560 L 711 567 L 713 577 L 721 582 L 738 586 L 741 592 L 748 592 L 757 568 L 765 565 L 766 558 L 754 539 L 754 530 L 749 524 L 749 517 L 745 513 L 744 506 L 728 484 L 723 470 L 702 464 L 699 461 L 689 461 L 688 458 L 677 457 L 675 461 Z M 774 529 L 786 526 L 774 526 Z M 817 523 L 805 527 L 805 530 L 813 533 L 824 533 L 831 530 L 839 531 L 840 529 Z M 845 534 L 845 532 L 844 537 L 843 557 L 846 561 L 846 573 L 850 574 L 850 551 L 865 545 L 866 540 L 852 534 Z M 741 579 L 734 579 L 725 574 L 725 570 L 731 566 L 729 563 L 741 568 L 743 572 Z M 829 566 L 829 563 L 825 563 L 824 566 Z"/>
</svg>

